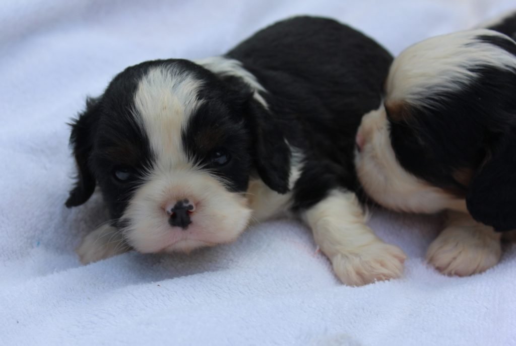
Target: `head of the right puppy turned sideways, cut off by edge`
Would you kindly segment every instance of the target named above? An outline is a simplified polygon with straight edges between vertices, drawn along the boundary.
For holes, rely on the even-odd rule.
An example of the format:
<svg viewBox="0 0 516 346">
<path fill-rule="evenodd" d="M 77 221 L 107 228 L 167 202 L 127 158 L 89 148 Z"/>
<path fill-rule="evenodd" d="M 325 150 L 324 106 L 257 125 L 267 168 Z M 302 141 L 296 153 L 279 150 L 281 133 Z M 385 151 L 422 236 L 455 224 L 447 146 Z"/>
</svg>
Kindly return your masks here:
<svg viewBox="0 0 516 346">
<path fill-rule="evenodd" d="M 402 52 L 384 105 L 358 130 L 366 192 L 396 210 L 467 207 L 496 229 L 516 228 L 515 54 L 514 41 L 486 29 Z"/>
</svg>

